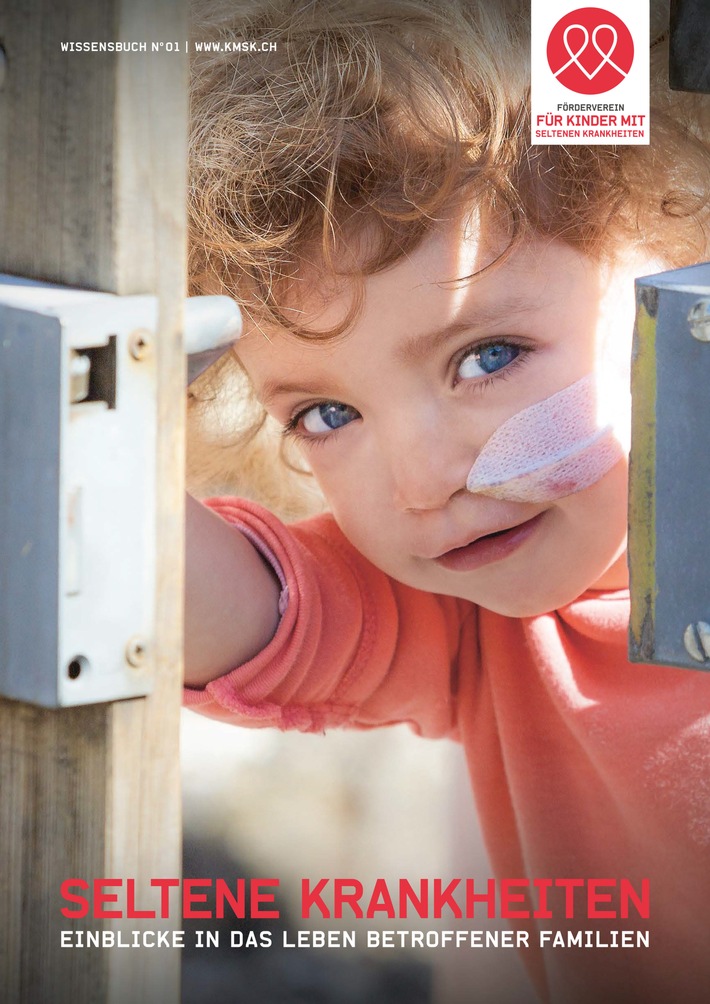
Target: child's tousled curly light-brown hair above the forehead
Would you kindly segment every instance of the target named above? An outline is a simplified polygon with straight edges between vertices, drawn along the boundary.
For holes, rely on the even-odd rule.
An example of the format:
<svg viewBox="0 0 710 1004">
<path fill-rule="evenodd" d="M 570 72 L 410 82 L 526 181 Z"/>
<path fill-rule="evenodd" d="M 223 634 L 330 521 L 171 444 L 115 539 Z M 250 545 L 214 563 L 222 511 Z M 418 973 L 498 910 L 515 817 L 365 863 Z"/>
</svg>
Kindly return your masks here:
<svg viewBox="0 0 710 1004">
<path fill-rule="evenodd" d="M 526 9 L 200 0 L 196 39 L 275 51 L 194 60 L 193 289 L 225 288 L 257 319 L 307 333 L 279 306 L 300 267 L 372 274 L 471 201 L 510 244 L 532 230 L 591 255 L 625 239 L 671 264 L 702 256 L 707 109 L 669 92 L 663 41 L 651 147 L 531 146 Z"/>
</svg>

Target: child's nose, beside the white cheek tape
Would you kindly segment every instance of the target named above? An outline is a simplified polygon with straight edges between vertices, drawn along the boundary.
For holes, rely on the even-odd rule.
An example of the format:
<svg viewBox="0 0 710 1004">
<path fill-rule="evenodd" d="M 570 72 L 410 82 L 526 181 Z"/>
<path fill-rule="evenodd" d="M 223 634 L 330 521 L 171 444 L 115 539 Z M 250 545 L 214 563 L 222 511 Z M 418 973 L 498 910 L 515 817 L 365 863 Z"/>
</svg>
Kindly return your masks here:
<svg viewBox="0 0 710 1004">
<path fill-rule="evenodd" d="M 420 421 L 386 443 L 393 501 L 402 511 L 441 509 L 465 490 L 477 450 L 455 431 Z"/>
</svg>

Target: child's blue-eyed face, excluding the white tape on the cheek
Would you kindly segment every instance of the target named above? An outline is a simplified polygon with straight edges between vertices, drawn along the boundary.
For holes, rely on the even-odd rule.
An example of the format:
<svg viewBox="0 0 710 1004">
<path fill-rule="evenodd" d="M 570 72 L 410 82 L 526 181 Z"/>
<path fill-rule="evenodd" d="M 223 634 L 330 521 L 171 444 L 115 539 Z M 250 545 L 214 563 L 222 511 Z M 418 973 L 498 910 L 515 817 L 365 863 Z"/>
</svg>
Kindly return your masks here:
<svg viewBox="0 0 710 1004">
<path fill-rule="evenodd" d="M 367 280 L 346 335 L 254 330 L 239 354 L 363 554 L 410 585 L 520 616 L 627 584 L 627 464 L 543 503 L 473 495 L 467 475 L 503 422 L 587 373 L 619 382 L 623 400 L 633 278 L 657 265 L 603 268 L 537 240 L 446 284 L 491 257 L 475 227 L 447 224 Z M 343 289 L 299 306 L 325 329 L 349 302 Z"/>
</svg>

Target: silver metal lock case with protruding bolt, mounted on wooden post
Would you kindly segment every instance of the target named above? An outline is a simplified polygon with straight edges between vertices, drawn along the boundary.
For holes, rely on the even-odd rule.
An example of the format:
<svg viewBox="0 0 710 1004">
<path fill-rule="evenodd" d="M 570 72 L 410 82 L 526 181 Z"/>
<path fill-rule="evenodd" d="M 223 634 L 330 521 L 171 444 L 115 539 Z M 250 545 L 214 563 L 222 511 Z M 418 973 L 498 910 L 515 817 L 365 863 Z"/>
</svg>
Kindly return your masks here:
<svg viewBox="0 0 710 1004">
<path fill-rule="evenodd" d="M 191 303 L 202 369 L 240 330 Z M 44 707 L 150 693 L 158 306 L 0 276 L 0 694 Z"/>
</svg>

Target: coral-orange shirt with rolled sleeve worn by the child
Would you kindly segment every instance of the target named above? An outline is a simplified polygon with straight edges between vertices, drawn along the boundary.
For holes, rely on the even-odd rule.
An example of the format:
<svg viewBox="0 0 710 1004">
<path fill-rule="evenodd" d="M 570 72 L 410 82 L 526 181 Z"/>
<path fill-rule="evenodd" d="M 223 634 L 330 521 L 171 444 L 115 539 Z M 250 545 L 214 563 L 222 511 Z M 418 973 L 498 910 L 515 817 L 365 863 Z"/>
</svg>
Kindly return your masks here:
<svg viewBox="0 0 710 1004">
<path fill-rule="evenodd" d="M 460 740 L 496 876 L 553 883 L 552 919 L 514 921 L 530 932 L 523 958 L 543 996 L 710 999 L 710 675 L 630 664 L 628 592 L 505 617 L 394 581 L 329 516 L 285 527 L 250 502 L 211 505 L 263 541 L 287 604 L 267 648 L 187 690 L 188 707 L 251 727 L 407 722 Z M 577 899 L 565 919 L 554 882 L 572 877 L 637 890 L 648 878 L 650 918 L 620 918 L 604 885 L 612 900 L 596 913 L 616 917 L 589 918 Z M 534 895 L 527 907 L 539 908 Z M 543 929 L 600 931 L 606 943 L 614 930 L 649 931 L 650 948 L 540 946 Z"/>
</svg>

